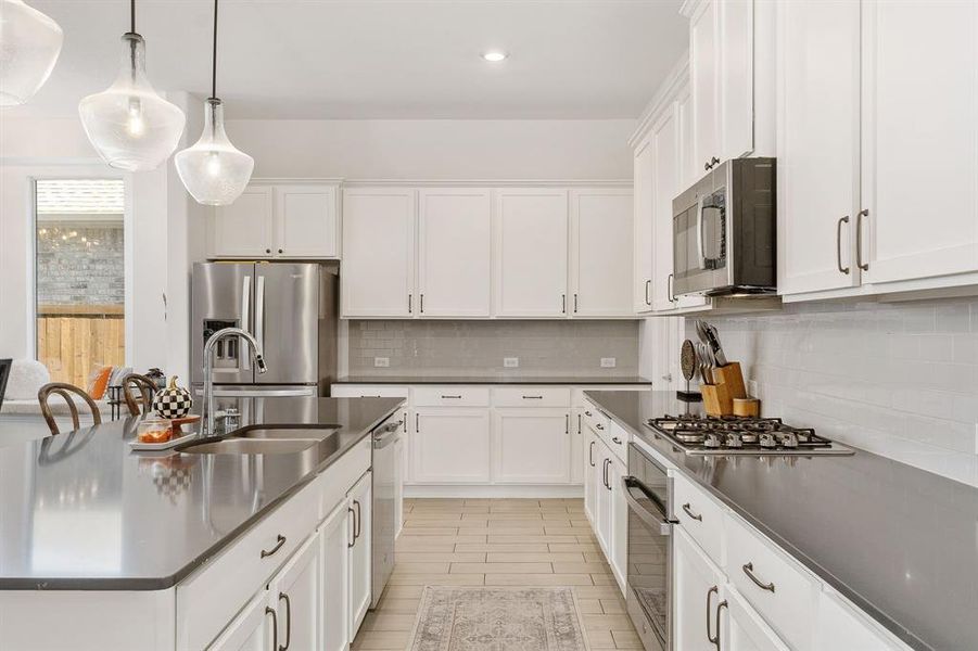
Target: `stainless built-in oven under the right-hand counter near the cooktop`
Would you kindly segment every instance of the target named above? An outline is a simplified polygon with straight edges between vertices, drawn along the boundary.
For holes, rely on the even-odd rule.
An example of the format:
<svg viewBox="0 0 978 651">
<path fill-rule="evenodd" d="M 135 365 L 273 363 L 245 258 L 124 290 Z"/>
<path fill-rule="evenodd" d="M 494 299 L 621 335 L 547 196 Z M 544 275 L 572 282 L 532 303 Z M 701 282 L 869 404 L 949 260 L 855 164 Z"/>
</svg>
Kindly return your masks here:
<svg viewBox="0 0 978 651">
<path fill-rule="evenodd" d="M 628 616 L 646 651 L 671 651 L 672 480 L 633 443 L 622 483 L 628 502 Z"/>
</svg>

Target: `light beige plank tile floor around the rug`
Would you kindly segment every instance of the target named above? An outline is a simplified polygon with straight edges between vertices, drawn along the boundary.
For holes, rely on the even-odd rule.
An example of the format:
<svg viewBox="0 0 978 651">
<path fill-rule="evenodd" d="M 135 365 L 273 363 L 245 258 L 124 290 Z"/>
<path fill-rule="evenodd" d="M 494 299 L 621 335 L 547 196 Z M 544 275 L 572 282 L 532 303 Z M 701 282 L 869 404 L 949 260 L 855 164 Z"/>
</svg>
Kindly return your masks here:
<svg viewBox="0 0 978 651">
<path fill-rule="evenodd" d="M 573 586 L 592 649 L 642 649 L 581 499 L 407 499 L 397 564 L 355 651 L 404 651 L 427 585 Z"/>
</svg>

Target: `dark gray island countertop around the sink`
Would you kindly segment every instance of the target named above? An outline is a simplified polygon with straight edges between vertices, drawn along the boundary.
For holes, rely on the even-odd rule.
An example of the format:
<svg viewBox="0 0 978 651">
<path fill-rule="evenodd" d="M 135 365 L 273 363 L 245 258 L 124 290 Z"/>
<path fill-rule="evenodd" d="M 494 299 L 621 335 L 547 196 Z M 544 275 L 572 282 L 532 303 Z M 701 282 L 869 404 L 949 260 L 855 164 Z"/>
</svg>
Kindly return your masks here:
<svg viewBox="0 0 978 651">
<path fill-rule="evenodd" d="M 131 421 L 0 447 L 0 589 L 160 590 L 312 481 L 401 398 L 265 398 L 246 424 L 341 427 L 294 455 L 134 452 Z M 228 406 L 225 403 L 225 406 Z"/>
</svg>

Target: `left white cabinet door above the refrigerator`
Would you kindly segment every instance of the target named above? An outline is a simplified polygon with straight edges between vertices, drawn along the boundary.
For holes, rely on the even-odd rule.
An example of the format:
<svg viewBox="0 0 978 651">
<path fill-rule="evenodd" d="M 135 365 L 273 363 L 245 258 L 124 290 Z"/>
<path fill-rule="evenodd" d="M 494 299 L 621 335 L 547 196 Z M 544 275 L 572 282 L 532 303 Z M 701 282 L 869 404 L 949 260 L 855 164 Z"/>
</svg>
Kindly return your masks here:
<svg viewBox="0 0 978 651">
<path fill-rule="evenodd" d="M 207 232 L 211 257 L 270 256 L 274 212 L 270 186 L 249 186 L 234 203 L 215 208 Z"/>
</svg>

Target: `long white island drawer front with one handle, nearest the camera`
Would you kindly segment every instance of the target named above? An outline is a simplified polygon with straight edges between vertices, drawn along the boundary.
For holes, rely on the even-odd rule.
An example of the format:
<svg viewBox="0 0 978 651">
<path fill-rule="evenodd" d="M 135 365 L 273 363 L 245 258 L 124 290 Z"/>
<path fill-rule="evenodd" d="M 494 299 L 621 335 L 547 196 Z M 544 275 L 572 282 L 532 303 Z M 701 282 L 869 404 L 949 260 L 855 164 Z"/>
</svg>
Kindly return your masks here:
<svg viewBox="0 0 978 651">
<path fill-rule="evenodd" d="M 316 528 L 317 496 L 307 484 L 177 586 L 178 649 L 206 647 L 289 560 Z"/>
</svg>

